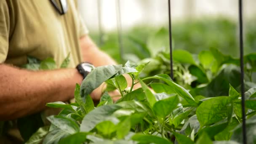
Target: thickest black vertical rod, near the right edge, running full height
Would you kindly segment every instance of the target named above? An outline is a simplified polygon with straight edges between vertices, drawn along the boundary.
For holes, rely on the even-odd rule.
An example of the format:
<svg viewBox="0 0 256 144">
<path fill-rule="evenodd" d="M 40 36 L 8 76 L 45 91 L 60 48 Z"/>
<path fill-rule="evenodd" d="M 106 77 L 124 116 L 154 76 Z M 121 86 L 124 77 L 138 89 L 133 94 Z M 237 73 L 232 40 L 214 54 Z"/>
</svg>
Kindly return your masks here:
<svg viewBox="0 0 256 144">
<path fill-rule="evenodd" d="M 239 42 L 240 42 L 240 68 L 241 68 L 241 96 L 242 96 L 242 116 L 243 116 L 243 144 L 247 144 L 245 126 L 245 85 L 244 85 L 244 65 L 243 65 L 243 5 L 239 0 Z"/>
</svg>

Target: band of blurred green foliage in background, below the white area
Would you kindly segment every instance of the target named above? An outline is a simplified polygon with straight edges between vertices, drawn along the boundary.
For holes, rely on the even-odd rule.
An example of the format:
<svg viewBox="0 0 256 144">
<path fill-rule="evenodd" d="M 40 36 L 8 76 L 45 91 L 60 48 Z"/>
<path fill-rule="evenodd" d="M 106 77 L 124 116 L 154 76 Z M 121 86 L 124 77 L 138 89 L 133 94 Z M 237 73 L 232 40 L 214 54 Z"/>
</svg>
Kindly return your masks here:
<svg viewBox="0 0 256 144">
<path fill-rule="evenodd" d="M 245 20 L 245 54 L 256 51 L 255 20 Z M 99 45 L 99 32 L 91 32 L 91 37 Z M 173 22 L 172 25 L 174 49 L 184 49 L 190 53 L 200 53 L 202 50 L 217 48 L 221 53 L 239 56 L 239 41 L 237 21 L 224 17 L 203 18 Z M 159 50 L 169 48 L 168 26 L 150 27 L 140 25 L 122 32 L 124 61 L 138 62 L 141 59 L 154 56 Z M 99 45 L 119 63 L 119 44 L 117 32 L 112 31 L 102 36 L 103 44 Z M 162 47 L 160 47 L 162 46 Z M 154 52 L 155 51 L 155 52 Z"/>
</svg>

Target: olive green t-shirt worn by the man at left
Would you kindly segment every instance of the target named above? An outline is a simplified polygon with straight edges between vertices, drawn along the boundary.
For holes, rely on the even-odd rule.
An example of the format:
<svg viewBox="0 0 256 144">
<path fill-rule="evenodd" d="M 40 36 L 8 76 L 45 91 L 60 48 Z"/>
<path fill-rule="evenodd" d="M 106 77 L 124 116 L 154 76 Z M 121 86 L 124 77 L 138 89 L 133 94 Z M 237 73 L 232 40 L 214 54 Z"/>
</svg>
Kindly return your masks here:
<svg viewBox="0 0 256 144">
<path fill-rule="evenodd" d="M 60 15 L 50 0 L 0 0 L 0 63 L 21 66 L 33 56 L 51 57 L 60 66 L 69 52 L 69 67 L 80 63 L 79 38 L 88 30 L 77 0 L 67 3 L 67 13 Z"/>
</svg>

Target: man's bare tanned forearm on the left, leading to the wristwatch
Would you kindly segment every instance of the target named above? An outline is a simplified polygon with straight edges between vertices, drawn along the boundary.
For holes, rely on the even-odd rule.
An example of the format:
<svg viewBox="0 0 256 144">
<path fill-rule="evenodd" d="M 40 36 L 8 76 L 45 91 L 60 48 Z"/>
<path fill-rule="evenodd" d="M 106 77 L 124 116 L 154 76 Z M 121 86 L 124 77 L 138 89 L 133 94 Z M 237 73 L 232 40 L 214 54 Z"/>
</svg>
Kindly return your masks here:
<svg viewBox="0 0 256 144">
<path fill-rule="evenodd" d="M 0 120 L 40 112 L 48 102 L 67 101 L 82 80 L 76 69 L 34 72 L 0 64 Z"/>
</svg>

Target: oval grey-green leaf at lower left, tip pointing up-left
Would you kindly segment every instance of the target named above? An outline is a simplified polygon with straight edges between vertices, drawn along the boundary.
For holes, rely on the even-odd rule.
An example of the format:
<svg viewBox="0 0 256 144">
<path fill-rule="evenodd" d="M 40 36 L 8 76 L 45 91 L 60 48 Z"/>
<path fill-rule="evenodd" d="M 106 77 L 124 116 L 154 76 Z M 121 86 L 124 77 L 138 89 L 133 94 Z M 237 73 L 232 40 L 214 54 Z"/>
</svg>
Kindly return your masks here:
<svg viewBox="0 0 256 144">
<path fill-rule="evenodd" d="M 79 132 L 79 125 L 77 125 L 77 123 L 67 117 L 52 115 L 50 117 L 47 117 L 47 119 L 57 128 L 60 128 L 67 133 L 74 134 L 76 132 Z"/>
</svg>

